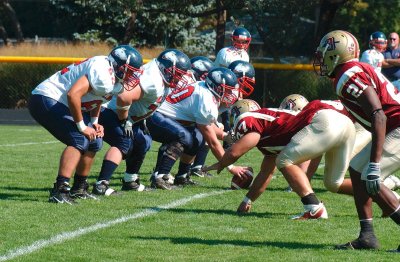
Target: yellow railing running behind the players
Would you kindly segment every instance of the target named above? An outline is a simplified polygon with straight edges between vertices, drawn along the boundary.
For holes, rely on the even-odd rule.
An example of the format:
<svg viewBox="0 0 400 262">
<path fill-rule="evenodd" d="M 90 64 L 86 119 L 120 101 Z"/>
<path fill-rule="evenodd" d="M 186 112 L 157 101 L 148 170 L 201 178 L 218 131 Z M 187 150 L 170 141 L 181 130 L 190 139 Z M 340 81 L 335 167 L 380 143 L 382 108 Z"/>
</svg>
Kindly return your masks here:
<svg viewBox="0 0 400 262">
<path fill-rule="evenodd" d="M 40 63 L 40 64 L 71 64 L 84 60 L 84 57 L 33 57 L 33 56 L 0 56 L 0 63 Z M 150 59 L 143 59 L 147 63 Z M 273 70 L 313 70 L 310 64 L 265 64 L 253 63 L 257 69 Z"/>
</svg>

